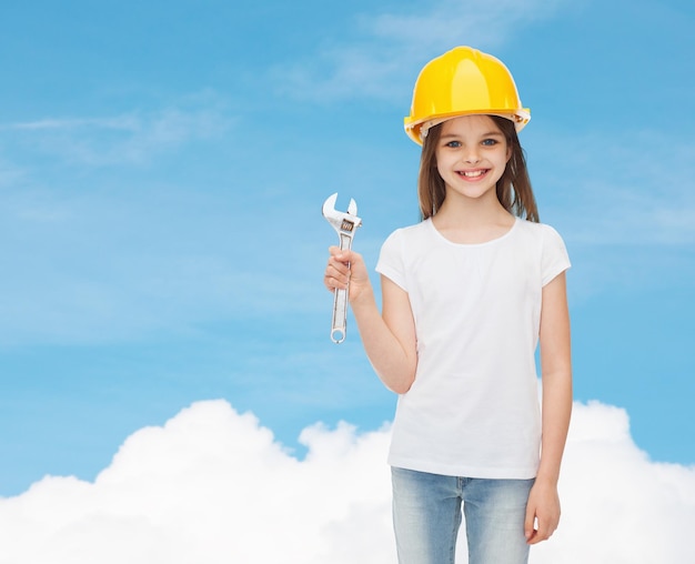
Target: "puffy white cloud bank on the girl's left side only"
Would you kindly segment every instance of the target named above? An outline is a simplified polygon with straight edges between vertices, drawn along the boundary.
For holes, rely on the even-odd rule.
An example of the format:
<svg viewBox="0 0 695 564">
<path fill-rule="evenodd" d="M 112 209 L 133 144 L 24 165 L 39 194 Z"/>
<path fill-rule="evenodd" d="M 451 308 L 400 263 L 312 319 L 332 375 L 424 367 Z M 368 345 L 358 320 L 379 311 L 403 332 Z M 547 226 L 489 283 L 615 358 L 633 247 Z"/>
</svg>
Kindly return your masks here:
<svg viewBox="0 0 695 564">
<path fill-rule="evenodd" d="M 129 437 L 93 484 L 47 477 L 1 501 L 0 562 L 348 563 L 357 544 L 387 561 L 386 434 L 302 441 L 298 462 L 253 415 L 195 404 Z M 367 517 L 374 546 L 345 534 Z"/>
</svg>

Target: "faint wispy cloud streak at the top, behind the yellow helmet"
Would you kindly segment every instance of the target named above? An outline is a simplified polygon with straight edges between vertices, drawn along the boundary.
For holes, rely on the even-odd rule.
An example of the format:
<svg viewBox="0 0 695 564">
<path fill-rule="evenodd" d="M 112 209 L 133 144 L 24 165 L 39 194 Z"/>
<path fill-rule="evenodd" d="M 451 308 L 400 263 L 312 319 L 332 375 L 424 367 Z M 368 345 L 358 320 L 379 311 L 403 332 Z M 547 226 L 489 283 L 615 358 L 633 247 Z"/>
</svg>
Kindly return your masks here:
<svg viewBox="0 0 695 564">
<path fill-rule="evenodd" d="M 491 49 L 515 27 L 553 17 L 566 0 L 440 0 L 422 11 L 363 14 L 348 26 L 356 37 L 323 43 L 314 59 L 283 63 L 272 82 L 283 93 L 315 101 L 336 98 L 399 98 L 410 92 L 413 72 L 457 44 Z M 420 4 L 417 4 L 420 7 Z"/>
</svg>

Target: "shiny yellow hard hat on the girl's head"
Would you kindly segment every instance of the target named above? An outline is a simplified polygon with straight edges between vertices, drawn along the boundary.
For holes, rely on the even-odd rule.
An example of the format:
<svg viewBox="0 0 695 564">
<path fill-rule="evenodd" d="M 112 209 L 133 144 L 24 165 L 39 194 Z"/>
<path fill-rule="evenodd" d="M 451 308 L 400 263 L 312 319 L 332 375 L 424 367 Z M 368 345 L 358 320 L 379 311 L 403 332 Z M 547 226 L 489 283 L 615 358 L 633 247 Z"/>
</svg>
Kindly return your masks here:
<svg viewBox="0 0 695 564">
<path fill-rule="evenodd" d="M 470 47 L 456 47 L 432 59 L 420 71 L 413 89 L 405 132 L 422 144 L 427 130 L 450 118 L 494 114 L 512 120 L 521 131 L 531 120 L 514 78 L 495 57 Z"/>
</svg>

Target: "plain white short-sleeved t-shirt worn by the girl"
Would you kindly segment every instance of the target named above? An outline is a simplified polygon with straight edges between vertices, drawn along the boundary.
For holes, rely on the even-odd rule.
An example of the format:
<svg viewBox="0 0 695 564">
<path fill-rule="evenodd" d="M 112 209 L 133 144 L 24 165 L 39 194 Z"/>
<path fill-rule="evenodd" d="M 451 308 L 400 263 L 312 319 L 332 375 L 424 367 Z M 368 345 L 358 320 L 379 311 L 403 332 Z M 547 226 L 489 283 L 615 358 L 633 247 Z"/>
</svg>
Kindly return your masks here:
<svg viewBox="0 0 695 564">
<path fill-rule="evenodd" d="M 521 219 L 481 244 L 452 243 L 432 220 L 389 236 L 376 271 L 407 292 L 417 336 L 417 371 L 399 396 L 391 465 L 535 476 L 542 289 L 568 268 L 557 232 Z"/>
</svg>

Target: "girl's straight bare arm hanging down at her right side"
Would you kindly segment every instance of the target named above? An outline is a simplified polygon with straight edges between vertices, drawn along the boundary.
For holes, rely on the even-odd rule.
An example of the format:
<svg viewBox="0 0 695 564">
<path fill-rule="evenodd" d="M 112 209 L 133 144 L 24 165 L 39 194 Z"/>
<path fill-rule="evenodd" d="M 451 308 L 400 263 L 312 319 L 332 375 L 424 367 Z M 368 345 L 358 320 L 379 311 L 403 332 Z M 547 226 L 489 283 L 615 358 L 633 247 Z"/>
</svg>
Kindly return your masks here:
<svg viewBox="0 0 695 564">
<path fill-rule="evenodd" d="M 564 272 L 543 288 L 540 338 L 543 437 L 541 464 L 526 506 L 525 534 L 530 544 L 548 538 L 560 522 L 557 481 L 572 412 L 570 313 Z"/>
</svg>

